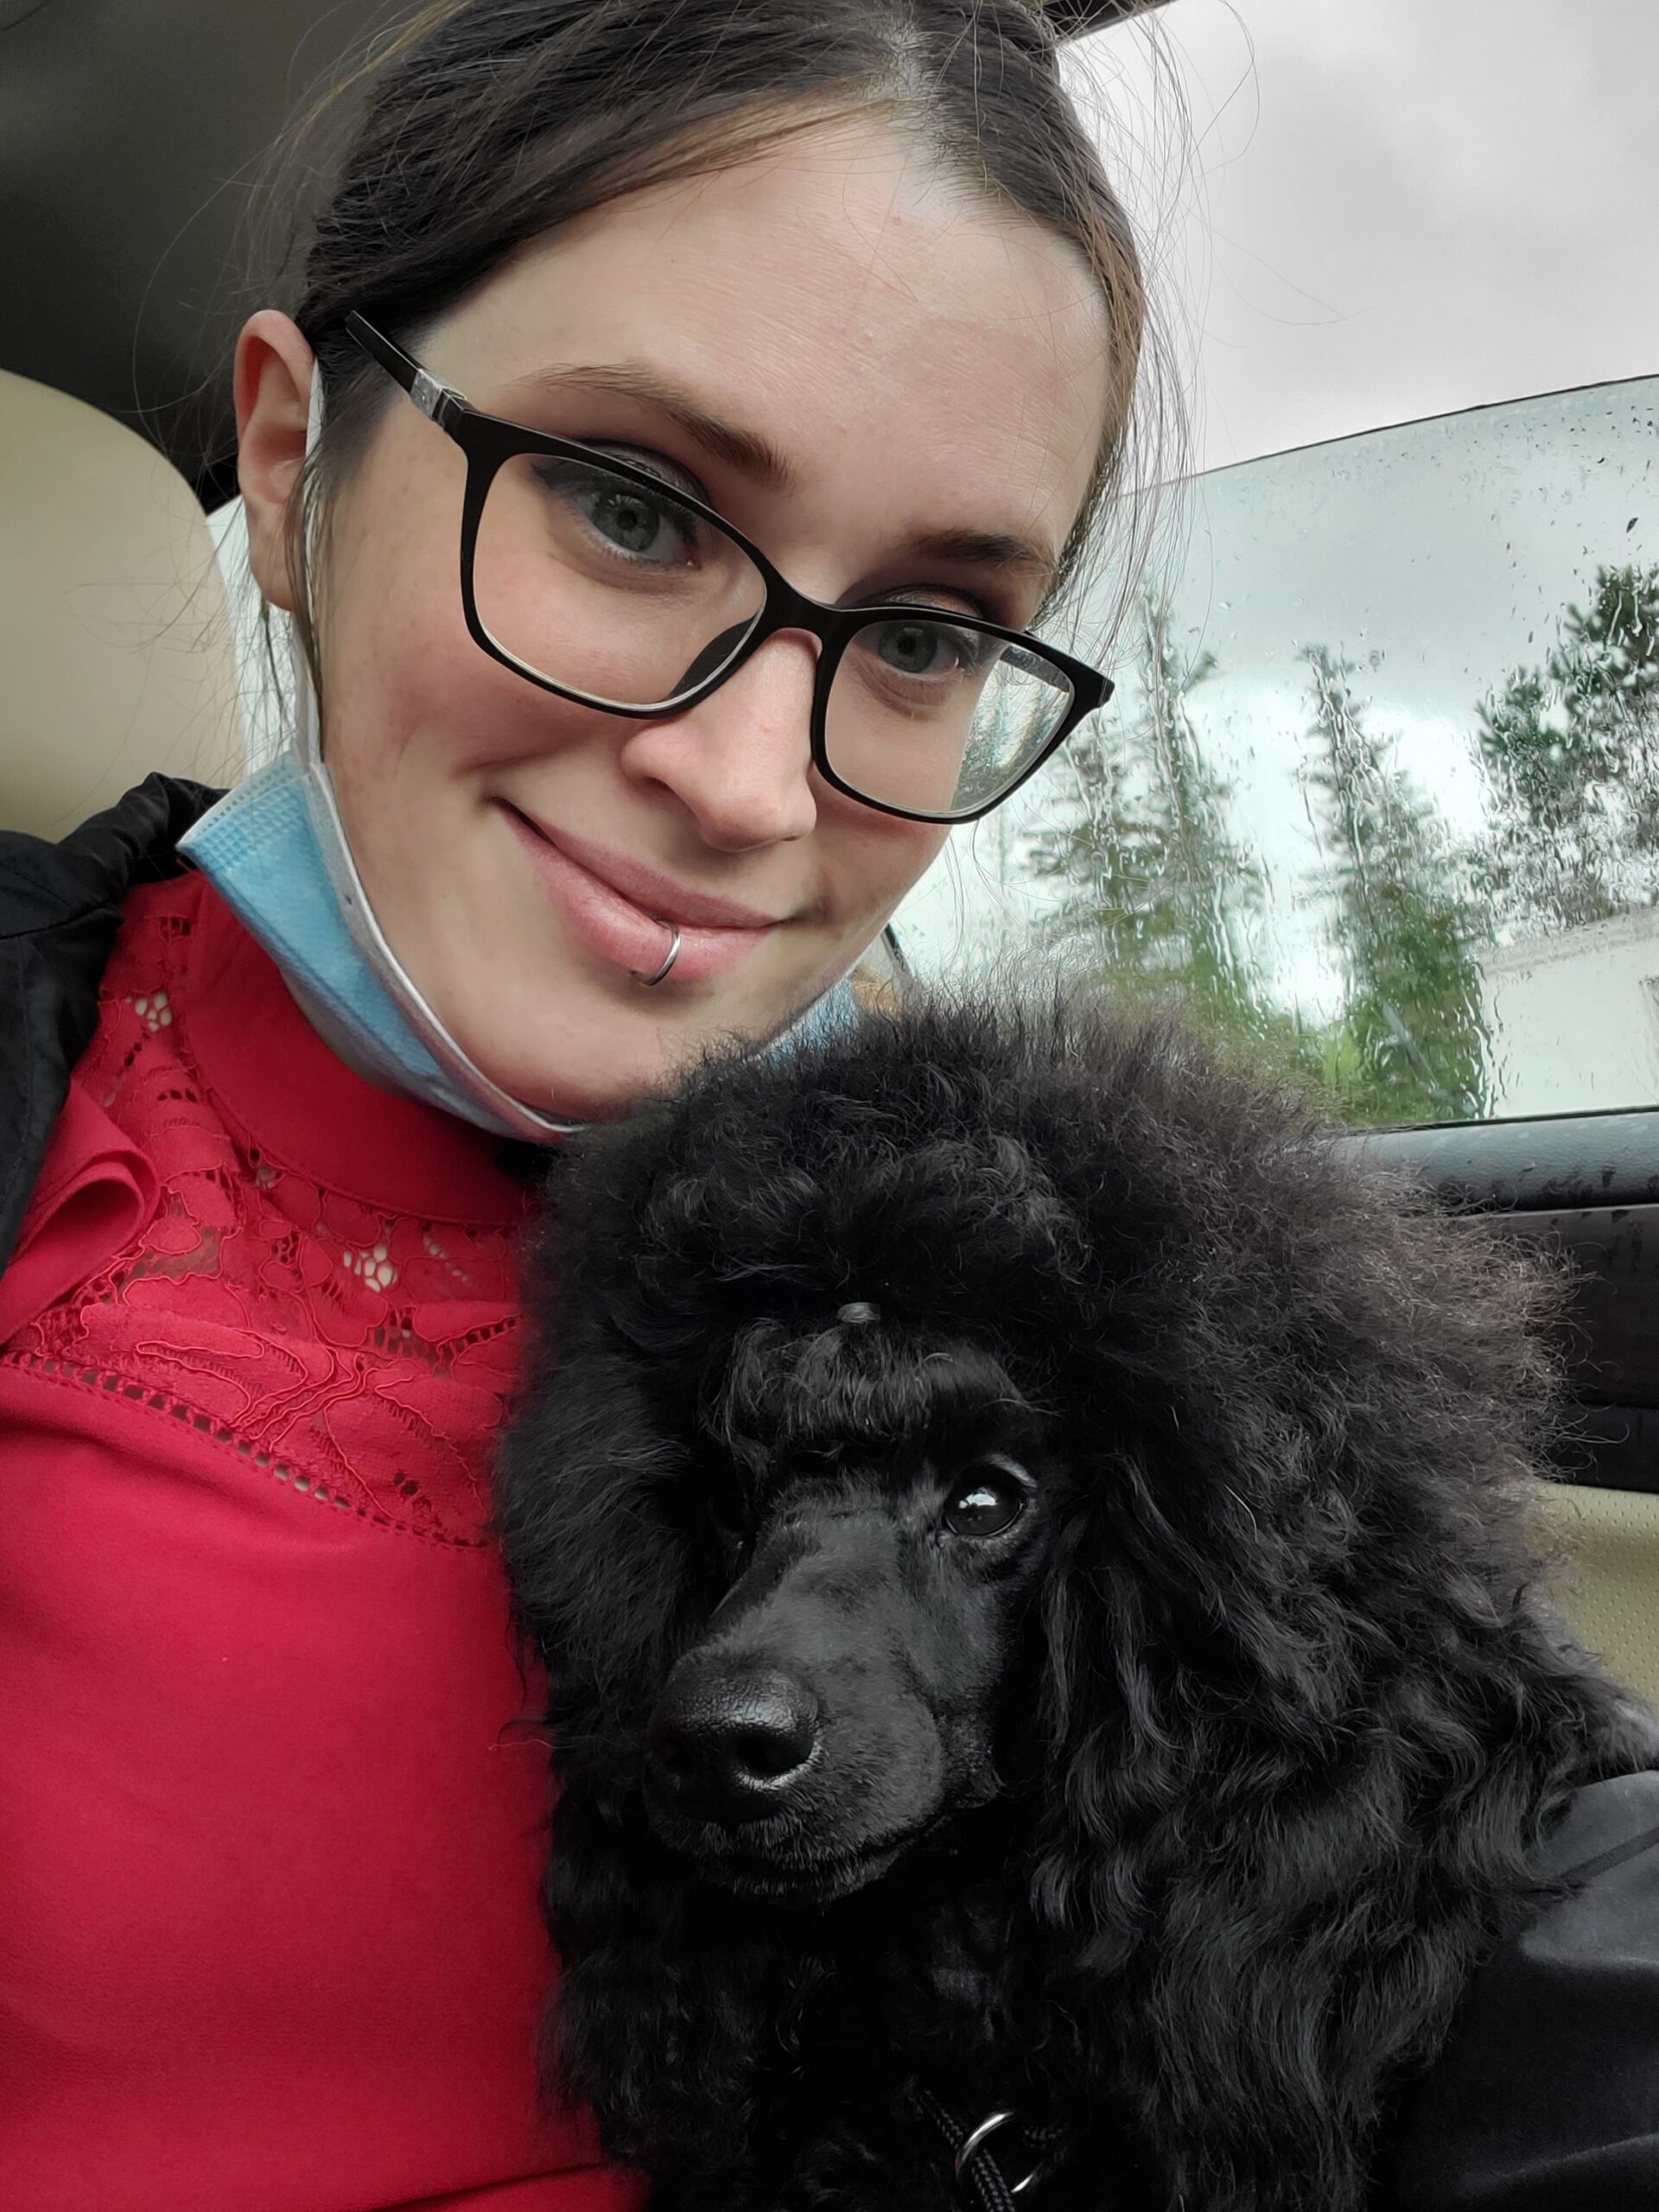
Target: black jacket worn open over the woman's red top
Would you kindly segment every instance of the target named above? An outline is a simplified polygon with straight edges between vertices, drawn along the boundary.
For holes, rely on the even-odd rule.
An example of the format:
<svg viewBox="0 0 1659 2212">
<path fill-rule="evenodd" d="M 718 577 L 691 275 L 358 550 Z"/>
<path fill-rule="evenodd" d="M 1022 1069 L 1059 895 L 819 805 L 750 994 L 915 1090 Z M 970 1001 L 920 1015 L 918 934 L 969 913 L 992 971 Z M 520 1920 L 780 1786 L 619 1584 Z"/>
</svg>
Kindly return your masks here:
<svg viewBox="0 0 1659 2212">
<path fill-rule="evenodd" d="M 179 874 L 217 796 L 150 776 L 62 845 L 0 832 L 0 1267 L 122 900 Z M 1407 2104 L 1396 2212 L 1659 2212 L 1659 1774 L 1582 1790 L 1546 1871 L 1573 1893 L 1475 1978 Z"/>
</svg>

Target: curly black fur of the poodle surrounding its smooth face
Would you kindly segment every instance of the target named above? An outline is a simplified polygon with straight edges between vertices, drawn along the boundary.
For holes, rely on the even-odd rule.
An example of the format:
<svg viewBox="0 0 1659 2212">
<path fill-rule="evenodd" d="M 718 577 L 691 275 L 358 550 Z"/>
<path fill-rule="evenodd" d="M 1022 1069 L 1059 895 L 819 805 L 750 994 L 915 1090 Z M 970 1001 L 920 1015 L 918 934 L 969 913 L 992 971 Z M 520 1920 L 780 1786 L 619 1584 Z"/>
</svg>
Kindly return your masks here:
<svg viewBox="0 0 1659 2212">
<path fill-rule="evenodd" d="M 1557 1298 L 1179 1026 L 1064 998 L 714 1062 L 571 1148 L 500 1528 L 553 1683 L 557 2070 L 655 2205 L 942 2212 L 911 2079 L 1057 2128 L 1051 2212 L 1380 2201 L 1528 1854 L 1652 1763 L 1537 1595 Z M 991 1358 L 1064 1469 L 1035 1756 L 841 1902 L 737 1898 L 644 1809 L 732 1579 L 710 1493 L 878 1431 L 907 1338 Z"/>
</svg>

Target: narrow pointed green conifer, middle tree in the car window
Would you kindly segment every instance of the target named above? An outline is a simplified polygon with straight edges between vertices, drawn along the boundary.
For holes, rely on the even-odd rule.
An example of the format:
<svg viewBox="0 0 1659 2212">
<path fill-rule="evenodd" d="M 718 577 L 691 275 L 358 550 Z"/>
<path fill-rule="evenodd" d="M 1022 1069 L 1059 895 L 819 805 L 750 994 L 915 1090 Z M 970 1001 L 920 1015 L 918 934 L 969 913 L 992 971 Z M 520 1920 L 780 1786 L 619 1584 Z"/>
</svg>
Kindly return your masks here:
<svg viewBox="0 0 1659 2212">
<path fill-rule="evenodd" d="M 1343 1013 L 1325 1075 L 1356 1121 L 1444 1121 L 1484 1110 L 1484 936 L 1436 810 L 1365 726 L 1352 661 L 1307 646 L 1314 757 L 1303 776 L 1329 865 L 1329 936 Z"/>
</svg>

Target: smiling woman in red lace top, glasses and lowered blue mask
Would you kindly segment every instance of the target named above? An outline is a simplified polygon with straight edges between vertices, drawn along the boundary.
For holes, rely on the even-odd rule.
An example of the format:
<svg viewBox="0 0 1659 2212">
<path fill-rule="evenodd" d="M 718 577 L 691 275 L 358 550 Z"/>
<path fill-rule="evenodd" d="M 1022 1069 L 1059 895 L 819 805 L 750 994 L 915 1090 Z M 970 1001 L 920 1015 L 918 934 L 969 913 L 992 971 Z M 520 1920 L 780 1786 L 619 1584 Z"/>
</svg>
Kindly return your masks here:
<svg viewBox="0 0 1659 2212">
<path fill-rule="evenodd" d="M 234 361 L 316 712 L 0 849 L 31 2212 L 635 2201 L 533 2117 L 500 1139 L 785 1035 L 1104 690 L 1020 637 L 1141 341 L 1035 15 L 469 0 L 365 86 Z"/>
</svg>

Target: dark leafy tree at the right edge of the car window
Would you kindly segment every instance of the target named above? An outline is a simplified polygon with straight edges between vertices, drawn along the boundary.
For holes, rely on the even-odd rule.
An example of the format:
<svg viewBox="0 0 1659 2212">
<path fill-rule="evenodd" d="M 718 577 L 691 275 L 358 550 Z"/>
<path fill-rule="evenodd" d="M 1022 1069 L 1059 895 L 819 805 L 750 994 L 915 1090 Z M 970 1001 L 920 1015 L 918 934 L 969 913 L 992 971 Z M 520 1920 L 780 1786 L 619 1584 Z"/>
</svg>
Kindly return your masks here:
<svg viewBox="0 0 1659 2212">
<path fill-rule="evenodd" d="M 1659 566 L 1599 566 L 1544 666 L 1475 712 L 1498 918 L 1533 933 L 1659 900 Z"/>
</svg>

